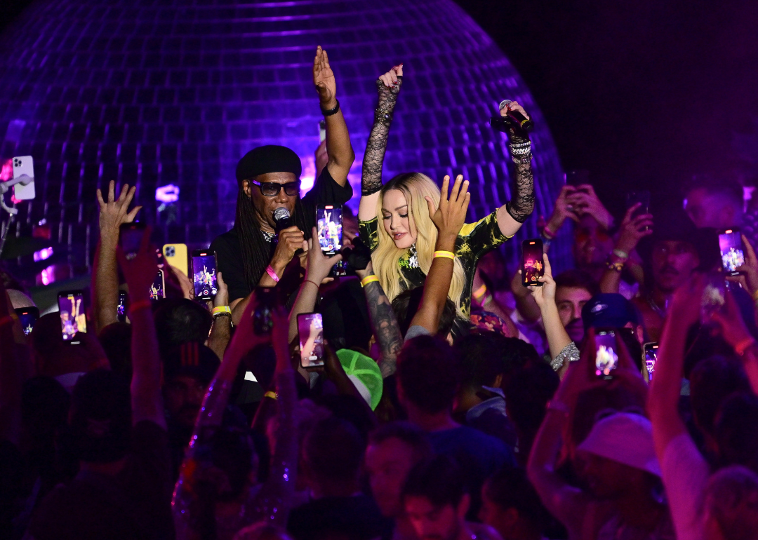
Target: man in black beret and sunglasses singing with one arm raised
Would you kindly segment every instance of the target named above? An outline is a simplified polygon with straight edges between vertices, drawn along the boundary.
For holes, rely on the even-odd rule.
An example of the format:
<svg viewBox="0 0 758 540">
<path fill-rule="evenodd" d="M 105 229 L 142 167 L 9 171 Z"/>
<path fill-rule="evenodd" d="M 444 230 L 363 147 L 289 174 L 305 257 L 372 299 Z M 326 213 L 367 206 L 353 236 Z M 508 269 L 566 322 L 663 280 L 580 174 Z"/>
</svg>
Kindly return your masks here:
<svg viewBox="0 0 758 540">
<path fill-rule="evenodd" d="M 259 146 L 249 151 L 236 167 L 239 184 L 233 229 L 211 243 L 218 257 L 218 270 L 229 288 L 232 320 L 238 323 L 256 286 L 274 287 L 315 226 L 316 207 L 344 204 L 352 197 L 347 173 L 355 152 L 329 66 L 327 52 L 319 46 L 313 62 L 313 83 L 321 113 L 326 120 L 329 162 L 313 189 L 300 198 L 300 158 L 290 148 Z M 274 211 L 287 208 L 295 223 L 275 232 Z"/>
</svg>

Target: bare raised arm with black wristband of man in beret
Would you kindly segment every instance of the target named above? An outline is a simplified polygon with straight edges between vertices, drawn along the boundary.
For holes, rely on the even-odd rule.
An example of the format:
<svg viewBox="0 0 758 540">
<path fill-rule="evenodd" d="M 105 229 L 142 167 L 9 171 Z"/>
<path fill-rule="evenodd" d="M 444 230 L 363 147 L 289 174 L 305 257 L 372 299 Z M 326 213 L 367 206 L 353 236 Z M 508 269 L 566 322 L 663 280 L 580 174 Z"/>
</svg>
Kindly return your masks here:
<svg viewBox="0 0 758 540">
<path fill-rule="evenodd" d="M 347 183 L 347 173 L 350 172 L 352 161 L 356 159 L 356 153 L 352 151 L 345 117 L 339 108 L 340 102 L 337 101 L 334 71 L 329 65 L 327 52 L 321 48 L 321 45 L 316 48 L 316 58 L 313 59 L 313 84 L 318 92 L 321 111 L 331 113 L 337 108 L 333 114 L 324 115 L 327 124 L 327 155 L 329 155 L 327 169 L 334 181 L 344 186 Z"/>
</svg>

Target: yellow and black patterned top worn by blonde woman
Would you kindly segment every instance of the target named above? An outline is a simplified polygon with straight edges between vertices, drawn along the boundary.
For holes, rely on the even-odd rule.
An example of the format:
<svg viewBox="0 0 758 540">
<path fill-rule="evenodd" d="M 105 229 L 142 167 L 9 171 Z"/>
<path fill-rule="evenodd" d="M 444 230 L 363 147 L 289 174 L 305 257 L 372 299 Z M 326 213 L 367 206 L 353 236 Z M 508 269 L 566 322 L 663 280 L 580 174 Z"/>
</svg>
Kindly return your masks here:
<svg viewBox="0 0 758 540">
<path fill-rule="evenodd" d="M 374 217 L 373 220 L 359 221 L 359 232 L 361 238 L 366 242 L 371 251 L 379 245 L 379 220 Z M 458 233 L 456 240 L 456 258 L 461 261 L 463 273 L 465 275 L 465 285 L 461 295 L 459 307 L 466 314 L 471 313 L 471 289 L 474 286 L 474 274 L 476 265 L 481 257 L 492 251 L 497 246 L 503 244 L 511 238 L 500 232 L 500 226 L 497 224 L 497 211 L 487 217 L 483 217 L 476 223 L 466 223 L 461 232 Z M 418 261 L 415 256 L 415 246 L 402 254 L 398 261 L 400 272 L 408 279 L 412 287 L 424 285 L 426 276 L 418 267 Z M 401 283 L 403 289 L 406 286 Z"/>
</svg>

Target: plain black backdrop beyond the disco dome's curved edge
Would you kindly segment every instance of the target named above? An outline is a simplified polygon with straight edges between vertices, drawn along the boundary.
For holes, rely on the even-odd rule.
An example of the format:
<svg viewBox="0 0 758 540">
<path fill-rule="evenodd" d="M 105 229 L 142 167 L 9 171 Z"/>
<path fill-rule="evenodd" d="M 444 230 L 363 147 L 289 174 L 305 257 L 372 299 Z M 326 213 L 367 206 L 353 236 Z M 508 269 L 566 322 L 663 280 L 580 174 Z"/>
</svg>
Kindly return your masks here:
<svg viewBox="0 0 758 540">
<path fill-rule="evenodd" d="M 617 213 L 716 173 L 756 183 L 754 0 L 457 0 L 493 37 L 550 123 L 565 170 L 587 169 Z M 30 0 L 0 2 L 0 31 Z"/>
</svg>

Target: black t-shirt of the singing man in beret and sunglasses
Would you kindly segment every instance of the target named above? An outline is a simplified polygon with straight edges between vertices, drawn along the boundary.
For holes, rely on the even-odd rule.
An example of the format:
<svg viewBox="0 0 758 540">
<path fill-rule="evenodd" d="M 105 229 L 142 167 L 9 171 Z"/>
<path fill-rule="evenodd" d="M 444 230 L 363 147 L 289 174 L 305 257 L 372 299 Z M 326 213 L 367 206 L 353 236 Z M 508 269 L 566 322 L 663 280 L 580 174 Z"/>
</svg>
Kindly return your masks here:
<svg viewBox="0 0 758 540">
<path fill-rule="evenodd" d="M 316 207 L 324 204 L 334 204 L 334 206 L 345 204 L 352 197 L 352 187 L 350 183 L 340 186 L 329 173 L 329 168 L 324 167 L 321 176 L 318 176 L 313 188 L 302 198 L 302 210 L 305 213 L 305 224 L 307 230 L 303 231 L 305 237 L 309 238 L 311 229 L 316 225 Z M 275 245 L 271 244 L 271 253 L 269 258 L 274 255 Z M 224 277 L 224 282 L 229 288 L 229 301 L 237 298 L 245 298 L 252 292 L 248 282 L 245 279 L 245 266 L 242 261 L 242 251 L 240 249 L 240 237 L 236 228 L 217 236 L 211 242 L 211 251 L 216 252 L 218 271 Z M 263 276 L 265 268 L 260 270 L 260 276 Z"/>
</svg>

